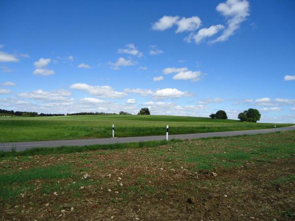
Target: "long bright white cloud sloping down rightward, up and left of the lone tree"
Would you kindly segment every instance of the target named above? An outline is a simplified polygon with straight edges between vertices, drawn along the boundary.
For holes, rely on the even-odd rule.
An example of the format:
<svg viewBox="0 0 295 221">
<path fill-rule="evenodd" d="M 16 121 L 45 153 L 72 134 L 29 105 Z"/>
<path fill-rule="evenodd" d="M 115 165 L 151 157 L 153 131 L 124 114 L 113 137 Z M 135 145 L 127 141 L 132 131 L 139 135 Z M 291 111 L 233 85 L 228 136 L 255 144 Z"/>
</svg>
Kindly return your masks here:
<svg viewBox="0 0 295 221">
<path fill-rule="evenodd" d="M 76 90 L 85 90 L 89 94 L 102 98 L 122 98 L 127 96 L 124 92 L 115 91 L 111 86 L 92 86 L 86 83 L 74 83 L 70 88 Z"/>
</svg>

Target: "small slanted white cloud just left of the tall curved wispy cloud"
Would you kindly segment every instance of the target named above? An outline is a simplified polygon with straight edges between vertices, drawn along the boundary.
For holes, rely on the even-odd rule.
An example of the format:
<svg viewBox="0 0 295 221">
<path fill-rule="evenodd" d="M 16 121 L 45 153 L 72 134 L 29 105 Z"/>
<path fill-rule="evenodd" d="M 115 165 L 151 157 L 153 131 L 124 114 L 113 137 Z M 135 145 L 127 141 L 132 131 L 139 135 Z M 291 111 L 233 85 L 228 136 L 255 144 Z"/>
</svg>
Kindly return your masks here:
<svg viewBox="0 0 295 221">
<path fill-rule="evenodd" d="M 194 39 L 196 44 L 200 44 L 205 38 L 211 37 L 212 35 L 216 34 L 218 31 L 222 30 L 223 28 L 224 28 L 223 25 L 216 25 L 216 26 L 211 26 L 209 28 L 202 28 L 198 31 L 197 34 L 191 33 L 184 40 L 187 42 L 191 42 L 191 39 Z"/>
</svg>

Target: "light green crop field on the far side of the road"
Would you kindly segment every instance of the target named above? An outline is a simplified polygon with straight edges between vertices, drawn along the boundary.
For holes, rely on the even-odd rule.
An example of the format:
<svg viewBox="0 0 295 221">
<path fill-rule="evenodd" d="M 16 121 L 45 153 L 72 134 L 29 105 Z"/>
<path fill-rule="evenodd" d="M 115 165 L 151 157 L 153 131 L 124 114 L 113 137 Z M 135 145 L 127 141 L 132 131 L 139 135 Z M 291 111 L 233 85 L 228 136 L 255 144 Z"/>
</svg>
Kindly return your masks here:
<svg viewBox="0 0 295 221">
<path fill-rule="evenodd" d="M 190 134 L 273 128 L 274 124 L 249 123 L 206 117 L 160 115 L 85 115 L 51 117 L 1 117 L 0 142 L 79 138 L 109 138 L 115 124 L 116 137 Z M 291 124 L 277 124 L 277 127 Z"/>
</svg>

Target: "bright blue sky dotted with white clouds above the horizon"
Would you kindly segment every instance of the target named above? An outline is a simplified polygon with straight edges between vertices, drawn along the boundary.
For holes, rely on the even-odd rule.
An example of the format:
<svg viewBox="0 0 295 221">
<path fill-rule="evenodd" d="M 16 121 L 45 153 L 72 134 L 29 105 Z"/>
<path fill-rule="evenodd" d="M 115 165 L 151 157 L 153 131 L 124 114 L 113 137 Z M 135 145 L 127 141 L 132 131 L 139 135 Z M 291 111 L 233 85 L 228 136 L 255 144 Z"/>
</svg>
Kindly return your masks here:
<svg viewBox="0 0 295 221">
<path fill-rule="evenodd" d="M 295 1 L 0 0 L 0 108 L 295 122 Z"/>
</svg>

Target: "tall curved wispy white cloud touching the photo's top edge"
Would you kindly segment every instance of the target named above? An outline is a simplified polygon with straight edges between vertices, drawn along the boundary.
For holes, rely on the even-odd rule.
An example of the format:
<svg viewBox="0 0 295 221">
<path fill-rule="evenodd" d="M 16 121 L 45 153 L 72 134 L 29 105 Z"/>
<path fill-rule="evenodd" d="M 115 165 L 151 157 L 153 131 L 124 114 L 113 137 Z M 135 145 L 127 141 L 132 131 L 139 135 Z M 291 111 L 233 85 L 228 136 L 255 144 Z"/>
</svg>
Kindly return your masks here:
<svg viewBox="0 0 295 221">
<path fill-rule="evenodd" d="M 247 0 L 227 0 L 226 2 L 219 3 L 216 10 L 227 18 L 228 27 L 211 43 L 226 41 L 233 35 L 236 29 L 239 28 L 240 23 L 246 20 L 250 15 L 249 1 Z"/>
</svg>

